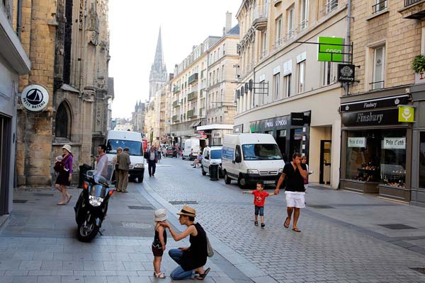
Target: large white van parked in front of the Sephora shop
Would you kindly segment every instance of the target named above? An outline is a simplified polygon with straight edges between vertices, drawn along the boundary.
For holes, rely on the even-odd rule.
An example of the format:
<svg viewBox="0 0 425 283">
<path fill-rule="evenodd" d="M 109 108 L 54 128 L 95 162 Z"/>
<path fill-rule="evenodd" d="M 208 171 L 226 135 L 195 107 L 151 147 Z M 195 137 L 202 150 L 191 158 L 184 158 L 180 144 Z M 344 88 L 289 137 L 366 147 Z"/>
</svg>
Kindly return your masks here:
<svg viewBox="0 0 425 283">
<path fill-rule="evenodd" d="M 255 190 L 256 183 L 276 185 L 285 161 L 271 134 L 226 134 L 222 146 L 225 183 Z"/>
</svg>

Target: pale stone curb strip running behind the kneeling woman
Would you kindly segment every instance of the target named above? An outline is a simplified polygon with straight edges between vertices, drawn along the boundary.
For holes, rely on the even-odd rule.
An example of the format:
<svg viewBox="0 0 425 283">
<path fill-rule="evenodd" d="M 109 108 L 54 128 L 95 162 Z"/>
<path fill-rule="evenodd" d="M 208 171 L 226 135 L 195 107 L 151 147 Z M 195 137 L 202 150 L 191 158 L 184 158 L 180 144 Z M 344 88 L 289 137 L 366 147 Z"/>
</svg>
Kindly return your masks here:
<svg viewBox="0 0 425 283">
<path fill-rule="evenodd" d="M 170 204 L 161 195 L 155 192 L 148 183 L 143 183 L 143 187 L 145 187 L 145 191 L 147 194 L 149 194 L 154 200 L 159 202 L 159 204 L 161 204 L 166 210 L 171 212 L 171 214 L 174 215 L 175 219 L 178 219 L 176 213 L 179 212 L 179 209 L 176 209 L 176 207 L 174 207 L 173 204 Z M 137 187 L 137 190 L 139 190 L 143 195 L 143 192 L 142 190 L 139 189 L 139 187 Z M 229 261 L 232 265 L 234 265 L 234 267 L 237 268 L 237 270 L 242 272 L 246 277 L 251 279 L 253 282 L 261 282 L 261 283 L 277 282 L 275 279 L 273 279 L 273 277 L 266 275 L 266 273 L 264 273 L 263 270 L 260 270 L 258 267 L 256 267 L 256 265 L 249 262 L 249 260 L 246 260 L 246 258 L 244 258 L 242 255 L 239 255 L 239 253 L 236 253 L 232 248 L 227 246 L 226 243 L 223 243 L 222 241 L 220 241 L 220 239 L 215 237 L 212 233 L 209 233 L 207 230 L 205 231 L 208 233 L 208 238 L 214 250 L 217 253 L 220 253 L 220 255 L 222 255 L 223 258 Z"/>
</svg>

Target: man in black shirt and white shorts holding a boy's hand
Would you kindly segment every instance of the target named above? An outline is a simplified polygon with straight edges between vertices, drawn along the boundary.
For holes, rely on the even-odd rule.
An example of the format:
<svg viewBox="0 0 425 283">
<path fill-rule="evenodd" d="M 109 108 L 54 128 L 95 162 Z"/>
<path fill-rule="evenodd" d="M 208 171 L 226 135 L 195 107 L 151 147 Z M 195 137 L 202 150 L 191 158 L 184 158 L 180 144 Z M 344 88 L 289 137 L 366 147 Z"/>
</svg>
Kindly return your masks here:
<svg viewBox="0 0 425 283">
<path fill-rule="evenodd" d="M 304 188 L 304 179 L 307 178 L 307 168 L 305 164 L 301 163 L 301 155 L 298 153 L 293 154 L 293 161 L 285 164 L 283 167 L 283 173 L 280 175 L 278 180 L 278 185 L 276 185 L 275 195 L 279 193 L 279 187 L 282 184 L 283 180 L 286 178 L 286 211 L 288 212 L 288 217 L 286 217 L 283 226 L 288 228 L 290 226 L 290 219 L 294 212 L 293 220 L 293 231 L 301 232 L 297 227 L 298 217 L 300 217 L 300 208 L 305 207 L 305 188 Z"/>
</svg>

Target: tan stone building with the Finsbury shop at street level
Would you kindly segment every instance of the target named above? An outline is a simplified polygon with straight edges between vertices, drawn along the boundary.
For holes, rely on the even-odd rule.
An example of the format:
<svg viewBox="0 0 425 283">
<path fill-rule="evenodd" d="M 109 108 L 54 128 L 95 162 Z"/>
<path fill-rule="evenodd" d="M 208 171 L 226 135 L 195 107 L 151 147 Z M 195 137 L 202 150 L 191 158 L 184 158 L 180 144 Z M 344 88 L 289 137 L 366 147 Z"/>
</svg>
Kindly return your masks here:
<svg viewBox="0 0 425 283">
<path fill-rule="evenodd" d="M 425 53 L 425 1 L 351 5 L 360 68 L 341 98 L 341 187 L 424 205 L 425 85 L 412 62 Z"/>
</svg>

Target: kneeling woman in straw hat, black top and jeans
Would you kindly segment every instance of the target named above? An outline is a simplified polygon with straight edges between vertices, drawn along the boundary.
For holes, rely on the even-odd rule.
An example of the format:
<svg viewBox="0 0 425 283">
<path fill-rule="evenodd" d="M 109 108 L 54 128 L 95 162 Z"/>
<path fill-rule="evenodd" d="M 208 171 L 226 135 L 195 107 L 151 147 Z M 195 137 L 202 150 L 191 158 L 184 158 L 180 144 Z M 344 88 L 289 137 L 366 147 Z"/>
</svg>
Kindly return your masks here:
<svg viewBox="0 0 425 283">
<path fill-rule="evenodd" d="M 179 264 L 170 277 L 174 280 L 188 279 L 191 278 L 194 273 L 198 273 L 199 276 L 196 279 L 203 280 L 210 272 L 210 267 L 206 270 L 203 269 L 207 262 L 207 235 L 200 226 L 199 223 L 195 222 L 196 210 L 184 206 L 181 212 L 177 213 L 180 215 L 179 221 L 181 225 L 186 225 L 185 231 L 177 234 L 168 222 L 161 224 L 167 227 L 173 236 L 174 241 L 180 241 L 190 235 L 189 242 L 191 246 L 188 248 L 174 248 L 169 250 L 170 257 Z"/>
</svg>

